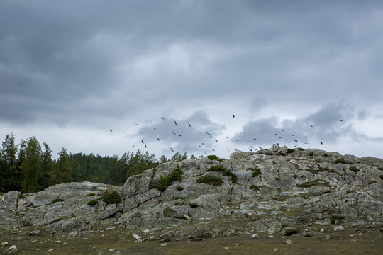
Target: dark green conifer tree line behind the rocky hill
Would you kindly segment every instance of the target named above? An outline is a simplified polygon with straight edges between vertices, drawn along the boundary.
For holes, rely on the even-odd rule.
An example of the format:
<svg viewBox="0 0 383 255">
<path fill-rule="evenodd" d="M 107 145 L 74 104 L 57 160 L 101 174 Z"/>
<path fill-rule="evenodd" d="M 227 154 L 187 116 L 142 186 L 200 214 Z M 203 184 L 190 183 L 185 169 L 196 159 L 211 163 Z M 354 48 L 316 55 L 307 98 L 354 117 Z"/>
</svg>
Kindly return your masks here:
<svg viewBox="0 0 383 255">
<path fill-rule="evenodd" d="M 155 154 L 140 150 L 110 157 L 68 153 L 65 148 L 58 153 L 58 159 L 52 159 L 48 143 L 43 142 L 42 146 L 36 137 L 30 137 L 16 145 L 13 134 L 6 135 L 1 145 L 0 192 L 38 192 L 71 181 L 123 185 L 129 176 L 155 168 L 160 163 L 187 159 L 186 152 L 176 152 L 170 159 L 165 156 L 155 159 Z M 196 157 L 191 155 L 189 159 Z"/>
</svg>

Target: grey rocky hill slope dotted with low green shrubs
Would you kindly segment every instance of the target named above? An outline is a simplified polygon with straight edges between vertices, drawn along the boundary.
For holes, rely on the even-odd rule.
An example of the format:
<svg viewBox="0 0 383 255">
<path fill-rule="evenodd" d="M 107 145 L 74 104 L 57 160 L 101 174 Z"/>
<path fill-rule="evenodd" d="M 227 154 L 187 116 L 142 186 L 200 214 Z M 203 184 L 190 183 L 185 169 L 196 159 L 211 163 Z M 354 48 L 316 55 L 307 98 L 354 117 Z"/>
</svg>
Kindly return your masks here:
<svg viewBox="0 0 383 255">
<path fill-rule="evenodd" d="M 102 225 L 138 229 L 147 239 L 382 229 L 382 170 L 383 159 L 278 146 L 167 162 L 123 187 L 83 182 L 6 193 L 0 229 L 78 237 Z"/>
</svg>

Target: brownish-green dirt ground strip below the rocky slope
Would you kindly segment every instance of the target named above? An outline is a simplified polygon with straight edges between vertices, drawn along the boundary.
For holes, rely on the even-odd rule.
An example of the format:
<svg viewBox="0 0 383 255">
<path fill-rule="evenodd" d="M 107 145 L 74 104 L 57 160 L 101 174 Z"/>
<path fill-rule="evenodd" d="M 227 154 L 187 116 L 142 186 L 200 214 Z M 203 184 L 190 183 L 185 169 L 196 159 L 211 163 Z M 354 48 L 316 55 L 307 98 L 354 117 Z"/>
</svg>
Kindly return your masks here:
<svg viewBox="0 0 383 255">
<path fill-rule="evenodd" d="M 17 254 L 383 254 L 383 232 L 365 231 L 323 232 L 304 237 L 296 234 L 260 234 L 217 237 L 212 239 L 173 239 L 170 242 L 135 242 L 134 232 L 126 229 L 104 230 L 87 237 L 52 237 L 41 231 L 30 235 L 30 229 L 0 232 L 0 254 L 16 244 Z M 330 239 L 326 239 L 326 235 Z M 287 244 L 291 240 L 291 244 Z M 164 245 L 164 246 L 162 246 Z"/>
</svg>

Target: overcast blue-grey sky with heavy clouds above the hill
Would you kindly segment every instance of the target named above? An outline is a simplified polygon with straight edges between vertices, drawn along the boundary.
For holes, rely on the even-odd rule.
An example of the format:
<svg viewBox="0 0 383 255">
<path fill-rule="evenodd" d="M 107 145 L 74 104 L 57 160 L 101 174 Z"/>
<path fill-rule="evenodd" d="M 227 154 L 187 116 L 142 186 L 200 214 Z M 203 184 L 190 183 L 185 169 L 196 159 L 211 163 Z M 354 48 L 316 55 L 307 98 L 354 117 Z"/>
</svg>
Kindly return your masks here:
<svg viewBox="0 0 383 255">
<path fill-rule="evenodd" d="M 379 0 L 0 0 L 0 140 L 383 158 L 382 28 Z"/>
</svg>

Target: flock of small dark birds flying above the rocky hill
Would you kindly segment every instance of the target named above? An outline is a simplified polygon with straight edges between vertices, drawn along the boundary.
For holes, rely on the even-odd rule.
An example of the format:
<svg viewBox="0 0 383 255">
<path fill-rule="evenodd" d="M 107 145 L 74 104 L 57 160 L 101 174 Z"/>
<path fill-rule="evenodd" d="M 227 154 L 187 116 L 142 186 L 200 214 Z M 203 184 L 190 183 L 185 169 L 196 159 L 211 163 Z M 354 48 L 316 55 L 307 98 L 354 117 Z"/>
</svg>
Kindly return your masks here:
<svg viewBox="0 0 383 255">
<path fill-rule="evenodd" d="M 166 118 L 164 118 L 164 117 L 160 117 L 163 121 L 167 121 L 167 119 Z M 232 115 L 232 118 L 234 119 L 235 118 L 235 115 Z M 343 120 L 340 120 L 341 122 L 343 122 Z M 135 123 L 135 125 L 139 125 L 138 123 Z M 181 125 L 180 123 L 177 123 L 177 120 L 174 120 L 174 128 L 177 128 L 177 126 L 179 126 L 179 125 Z M 192 127 L 192 125 L 191 125 L 191 123 L 189 123 L 189 122 L 187 122 L 187 126 L 189 127 L 189 128 L 191 128 Z M 152 127 L 153 128 L 153 131 L 154 132 L 157 132 L 157 128 L 155 128 L 155 127 Z M 310 125 L 310 128 L 315 128 L 313 125 Z M 170 132 L 172 132 L 172 134 L 173 135 L 176 135 L 177 137 L 182 137 L 182 135 L 181 134 L 179 134 L 179 133 L 177 133 L 177 132 L 174 132 L 174 130 L 175 129 L 171 129 L 170 130 Z M 306 135 L 304 135 L 303 137 L 304 137 L 304 142 L 299 142 L 297 139 L 298 138 L 296 138 L 296 136 L 294 135 L 294 134 L 290 134 L 290 135 L 287 135 L 287 131 L 284 129 L 284 128 L 281 128 L 280 129 L 281 131 L 282 131 L 282 134 L 283 135 L 281 135 L 281 133 L 280 134 L 278 134 L 278 133 L 274 133 L 274 137 L 275 137 L 275 142 L 272 144 L 272 147 L 274 147 L 274 146 L 276 146 L 276 145 L 280 145 L 280 141 L 282 141 L 282 137 L 286 137 L 286 136 L 291 136 L 291 137 L 293 137 L 293 140 L 294 140 L 294 143 L 296 143 L 296 145 L 294 145 L 293 147 L 295 148 L 295 147 L 297 147 L 298 145 L 299 145 L 299 143 L 303 143 L 303 144 L 308 144 L 309 142 L 309 137 L 308 136 L 306 136 Z M 113 130 L 112 129 L 110 129 L 110 132 L 113 132 Z M 140 133 L 140 135 L 144 135 L 144 133 L 143 133 L 143 131 L 142 130 L 139 130 L 139 133 Z M 207 137 L 209 137 L 209 140 L 212 142 L 212 143 L 215 143 L 215 144 L 217 144 L 218 143 L 218 139 L 216 138 L 216 137 L 213 137 L 213 135 L 212 135 L 212 133 L 211 132 L 207 132 L 207 131 L 205 131 L 205 133 L 206 133 L 206 137 L 205 138 L 207 138 Z M 235 139 L 233 138 L 233 137 L 235 137 Z M 303 139 L 303 137 L 302 137 L 302 139 Z M 142 138 L 142 137 L 141 137 Z M 144 141 L 144 139 L 142 138 L 141 139 L 140 138 L 140 140 L 141 140 L 141 142 L 140 142 L 140 145 L 141 145 L 141 147 L 143 147 L 143 148 L 145 148 L 145 149 L 148 149 L 148 143 L 147 142 L 145 142 Z M 233 142 L 244 142 L 243 140 L 242 141 L 240 141 L 240 135 L 238 134 L 238 133 L 235 133 L 235 135 L 232 135 L 232 138 L 230 138 L 230 137 L 225 137 L 226 138 L 226 140 L 232 140 Z M 159 136 L 157 136 L 157 142 L 160 142 L 162 140 L 162 138 L 160 138 Z M 165 139 L 166 140 L 166 139 Z M 250 151 L 250 152 L 255 152 L 255 151 L 257 151 L 258 149 L 263 149 L 261 146 L 255 146 L 254 144 L 255 144 L 255 141 L 257 140 L 257 137 L 253 137 L 252 138 L 252 140 L 251 141 L 248 141 L 251 145 L 248 147 L 248 150 Z M 293 141 L 293 140 L 291 140 L 291 142 Z M 319 144 L 320 145 L 323 145 L 323 142 L 319 142 Z M 211 145 L 211 144 L 210 144 Z M 253 146 L 254 145 L 254 146 Z M 136 145 L 134 145 L 133 144 L 133 147 L 136 147 Z M 212 149 L 212 147 L 213 146 L 210 146 L 210 149 L 211 149 L 211 151 L 215 151 L 215 149 Z M 199 145 L 198 145 L 198 149 L 206 149 L 206 148 L 209 148 L 209 146 L 206 146 L 206 143 L 205 142 L 200 142 L 199 143 Z M 173 147 L 169 147 L 169 149 L 170 149 L 170 151 L 172 151 L 172 152 L 174 152 L 174 149 L 173 149 Z M 197 148 L 196 148 L 197 149 Z M 226 148 L 227 149 L 227 148 Z M 230 149 L 227 149 L 227 151 L 228 152 L 231 152 L 231 150 Z M 234 151 L 238 151 L 238 149 L 234 149 Z M 207 154 L 207 152 L 204 152 L 204 154 Z"/>
</svg>

